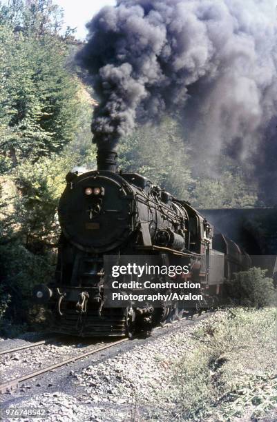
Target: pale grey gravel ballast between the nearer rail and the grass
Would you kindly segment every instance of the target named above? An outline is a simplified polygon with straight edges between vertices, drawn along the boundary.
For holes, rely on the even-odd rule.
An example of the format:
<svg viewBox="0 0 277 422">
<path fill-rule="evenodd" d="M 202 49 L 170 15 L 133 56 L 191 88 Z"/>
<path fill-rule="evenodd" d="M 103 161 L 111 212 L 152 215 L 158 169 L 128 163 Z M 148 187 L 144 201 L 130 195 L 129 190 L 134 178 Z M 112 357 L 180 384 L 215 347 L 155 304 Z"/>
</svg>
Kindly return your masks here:
<svg viewBox="0 0 277 422">
<path fill-rule="evenodd" d="M 146 344 L 88 365 L 81 372 L 72 370 L 75 394 L 47 392 L 24 399 L 17 406 L 45 408 L 44 421 L 169 421 L 175 414 L 177 394 L 173 361 L 191 348 L 191 335 L 203 323 L 181 325 Z"/>
</svg>

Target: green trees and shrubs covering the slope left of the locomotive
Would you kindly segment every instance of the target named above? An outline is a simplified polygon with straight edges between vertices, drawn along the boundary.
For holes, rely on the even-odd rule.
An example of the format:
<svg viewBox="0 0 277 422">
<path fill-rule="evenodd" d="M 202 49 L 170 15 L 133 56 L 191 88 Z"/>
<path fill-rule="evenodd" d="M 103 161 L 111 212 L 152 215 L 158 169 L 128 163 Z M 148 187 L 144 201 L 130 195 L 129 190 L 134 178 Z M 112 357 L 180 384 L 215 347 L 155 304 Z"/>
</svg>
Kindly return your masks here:
<svg viewBox="0 0 277 422">
<path fill-rule="evenodd" d="M 52 276 L 64 174 L 82 161 L 68 145 L 90 121 L 60 27 L 49 0 L 0 5 L 0 318 L 14 321 L 28 317 L 32 285 Z"/>
</svg>

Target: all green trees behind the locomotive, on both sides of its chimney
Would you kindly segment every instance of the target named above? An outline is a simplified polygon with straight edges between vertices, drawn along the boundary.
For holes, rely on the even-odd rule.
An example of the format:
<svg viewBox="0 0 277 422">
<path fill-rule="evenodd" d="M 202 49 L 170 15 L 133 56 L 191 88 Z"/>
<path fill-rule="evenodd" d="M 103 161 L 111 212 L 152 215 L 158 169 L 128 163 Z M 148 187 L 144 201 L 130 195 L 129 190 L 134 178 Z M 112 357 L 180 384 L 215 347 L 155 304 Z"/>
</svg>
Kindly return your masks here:
<svg viewBox="0 0 277 422">
<path fill-rule="evenodd" d="M 61 26 L 52 0 L 0 3 L 0 321 L 29 318 L 32 285 L 52 277 L 64 176 L 95 167 L 95 101 L 74 63 L 74 31 Z M 243 169 L 222 156 L 211 172 L 191 148 L 167 118 L 122 139 L 120 165 L 196 207 L 254 205 Z"/>
</svg>

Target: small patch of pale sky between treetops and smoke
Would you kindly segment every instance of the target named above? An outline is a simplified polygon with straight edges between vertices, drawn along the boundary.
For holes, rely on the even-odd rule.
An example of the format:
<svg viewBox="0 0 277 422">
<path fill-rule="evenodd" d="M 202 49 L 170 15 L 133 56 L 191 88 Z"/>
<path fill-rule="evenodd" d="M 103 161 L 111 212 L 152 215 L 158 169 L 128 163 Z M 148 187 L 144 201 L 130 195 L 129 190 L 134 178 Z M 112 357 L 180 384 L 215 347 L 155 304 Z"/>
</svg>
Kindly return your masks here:
<svg viewBox="0 0 277 422">
<path fill-rule="evenodd" d="M 76 37 L 84 39 L 87 34 L 86 22 L 104 6 L 114 6 L 115 0 L 55 0 L 64 9 L 65 26 L 77 27 Z"/>
</svg>

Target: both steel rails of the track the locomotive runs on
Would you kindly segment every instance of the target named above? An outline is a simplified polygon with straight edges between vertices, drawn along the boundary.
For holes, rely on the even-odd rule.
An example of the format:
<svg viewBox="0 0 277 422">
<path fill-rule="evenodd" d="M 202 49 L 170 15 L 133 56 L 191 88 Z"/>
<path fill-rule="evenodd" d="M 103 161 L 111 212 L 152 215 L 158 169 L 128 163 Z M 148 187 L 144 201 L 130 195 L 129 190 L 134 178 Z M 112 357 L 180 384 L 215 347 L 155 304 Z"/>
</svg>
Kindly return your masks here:
<svg viewBox="0 0 277 422">
<path fill-rule="evenodd" d="M 197 317 L 199 315 L 196 314 L 195 316 Z M 186 317 L 182 318 L 182 320 L 186 320 L 186 319 L 187 319 Z M 173 321 L 172 323 L 166 323 L 163 326 L 155 328 L 153 331 L 161 330 L 162 328 L 164 328 L 166 326 L 170 326 L 170 325 L 173 325 L 173 324 L 178 323 L 178 322 L 180 322 L 180 321 Z M 109 343 L 107 345 L 103 345 L 101 347 L 94 348 L 93 350 L 88 350 L 87 352 L 77 354 L 76 356 L 71 356 L 70 358 L 64 359 L 63 361 L 60 361 L 59 363 L 54 363 L 53 365 L 46 366 L 45 368 L 42 368 L 40 370 L 30 372 L 29 374 L 19 376 L 16 379 L 12 379 L 10 381 L 7 381 L 6 383 L 3 383 L 3 384 L 0 385 L 0 394 L 4 394 L 6 392 L 10 392 L 10 390 L 14 390 L 16 388 L 19 388 L 19 385 L 21 383 L 23 383 L 24 381 L 28 381 L 28 379 L 35 378 L 36 376 L 39 376 L 39 375 L 45 374 L 46 372 L 49 372 L 51 370 L 55 370 L 57 368 L 60 368 L 61 366 L 67 365 L 68 363 L 73 363 L 75 361 L 78 361 L 79 359 L 84 359 L 87 356 L 90 356 L 92 354 L 96 354 L 97 352 L 101 352 L 102 350 L 106 350 L 108 348 L 112 348 L 113 346 L 119 345 L 119 344 L 124 343 L 125 341 L 128 341 L 128 340 L 129 340 L 128 338 L 124 338 L 124 339 L 120 339 L 118 341 L 113 341 L 112 343 Z M 24 346 L 21 346 L 21 347 L 18 347 L 18 348 L 10 349 L 10 350 L 3 350 L 0 354 L 8 354 L 8 353 L 12 353 L 12 352 L 17 352 L 19 350 L 26 350 L 28 348 L 35 348 L 36 346 L 49 343 L 50 341 L 53 341 L 53 339 L 46 339 L 46 340 L 43 340 L 43 341 L 37 341 L 37 343 L 33 343 L 32 345 L 24 345 Z"/>
</svg>

